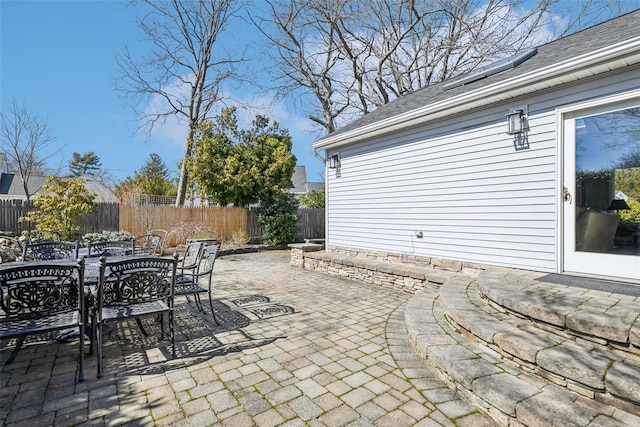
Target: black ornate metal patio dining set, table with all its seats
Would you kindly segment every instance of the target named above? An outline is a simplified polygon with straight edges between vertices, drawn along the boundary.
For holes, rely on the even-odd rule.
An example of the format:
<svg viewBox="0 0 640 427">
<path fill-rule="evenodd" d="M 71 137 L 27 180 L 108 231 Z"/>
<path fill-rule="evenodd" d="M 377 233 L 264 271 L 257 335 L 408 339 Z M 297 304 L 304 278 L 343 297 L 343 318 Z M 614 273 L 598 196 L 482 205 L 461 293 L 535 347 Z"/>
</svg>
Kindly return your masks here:
<svg viewBox="0 0 640 427">
<path fill-rule="evenodd" d="M 78 381 L 84 381 L 85 334 L 89 355 L 97 345 L 97 376 L 103 376 L 102 343 L 108 325 L 157 317 L 160 339 L 165 339 L 168 318 L 172 355 L 174 300 L 193 296 L 204 313 L 200 295 L 209 295 L 213 311 L 212 275 L 219 246 L 188 242 L 184 257 L 160 257 L 150 245 L 136 250 L 134 241 L 101 242 L 80 248 L 77 242 L 27 243 L 23 260 L 0 264 L 0 339 L 13 339 L 13 362 L 26 337 L 72 330 L 78 339 Z M 102 244 L 104 243 L 104 244 Z M 117 243 L 117 244 L 116 244 Z"/>
</svg>

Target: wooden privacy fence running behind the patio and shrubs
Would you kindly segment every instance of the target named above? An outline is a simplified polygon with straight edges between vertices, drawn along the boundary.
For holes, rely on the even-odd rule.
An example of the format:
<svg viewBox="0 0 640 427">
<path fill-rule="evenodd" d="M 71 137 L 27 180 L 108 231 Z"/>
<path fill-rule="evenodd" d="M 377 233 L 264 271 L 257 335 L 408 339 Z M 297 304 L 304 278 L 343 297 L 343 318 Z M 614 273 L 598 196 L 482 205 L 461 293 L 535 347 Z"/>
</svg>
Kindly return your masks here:
<svg viewBox="0 0 640 427">
<path fill-rule="evenodd" d="M 261 237 L 255 208 L 174 207 L 174 206 L 120 206 L 118 203 L 96 203 L 94 213 L 82 215 L 76 223 L 80 235 L 102 231 L 128 231 L 134 236 L 146 229 L 167 231 L 182 229 L 184 235 L 217 237 L 230 240 L 239 230 L 252 238 Z M 18 218 L 32 209 L 23 201 L 0 200 L 0 232 L 20 233 L 29 224 Z M 299 209 L 298 230 L 301 239 L 324 238 L 324 209 Z M 180 233 L 178 233 L 180 234 Z M 206 236 L 206 235 L 209 236 Z"/>
</svg>

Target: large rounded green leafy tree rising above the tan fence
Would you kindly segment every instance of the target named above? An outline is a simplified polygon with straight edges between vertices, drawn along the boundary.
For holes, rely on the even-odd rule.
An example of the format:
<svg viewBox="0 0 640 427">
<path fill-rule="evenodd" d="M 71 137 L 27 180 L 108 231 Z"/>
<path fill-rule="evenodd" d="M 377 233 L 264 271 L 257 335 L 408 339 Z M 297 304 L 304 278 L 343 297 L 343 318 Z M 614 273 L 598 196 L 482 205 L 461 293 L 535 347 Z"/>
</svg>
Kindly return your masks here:
<svg viewBox="0 0 640 427">
<path fill-rule="evenodd" d="M 287 130 L 264 116 L 239 129 L 235 108 L 198 128 L 193 154 L 188 168 L 198 193 L 222 206 L 248 206 L 290 187 L 296 165 Z"/>
</svg>

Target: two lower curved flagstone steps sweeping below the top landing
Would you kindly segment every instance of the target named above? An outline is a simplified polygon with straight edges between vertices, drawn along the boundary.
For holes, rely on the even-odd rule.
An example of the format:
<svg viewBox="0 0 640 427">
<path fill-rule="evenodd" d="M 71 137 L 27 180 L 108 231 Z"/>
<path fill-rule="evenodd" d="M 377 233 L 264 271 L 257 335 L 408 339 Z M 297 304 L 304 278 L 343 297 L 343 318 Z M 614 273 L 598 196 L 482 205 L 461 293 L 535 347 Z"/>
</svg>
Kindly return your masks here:
<svg viewBox="0 0 640 427">
<path fill-rule="evenodd" d="M 640 425 L 633 354 L 490 304 L 473 277 L 417 293 L 405 313 L 427 365 L 502 425 Z"/>
</svg>

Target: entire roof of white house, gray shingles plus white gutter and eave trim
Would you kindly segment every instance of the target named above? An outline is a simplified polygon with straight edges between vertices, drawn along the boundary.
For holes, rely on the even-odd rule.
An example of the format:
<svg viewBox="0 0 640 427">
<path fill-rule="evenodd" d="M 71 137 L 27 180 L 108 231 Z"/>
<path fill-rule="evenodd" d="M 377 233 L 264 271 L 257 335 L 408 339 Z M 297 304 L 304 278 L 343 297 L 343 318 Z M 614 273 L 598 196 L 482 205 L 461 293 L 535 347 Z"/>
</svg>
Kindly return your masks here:
<svg viewBox="0 0 640 427">
<path fill-rule="evenodd" d="M 472 72 L 404 95 L 313 146 L 338 148 L 637 63 L 640 63 L 640 10 L 539 46 L 534 56 L 499 73 L 459 86 L 451 84 L 473 75 Z"/>
</svg>

